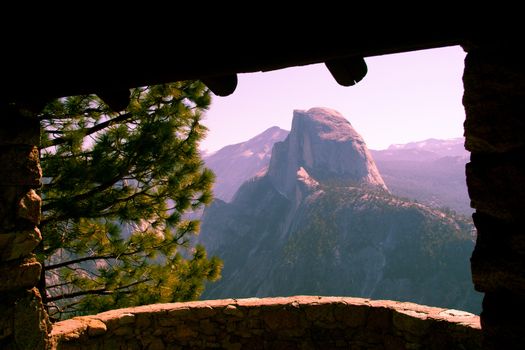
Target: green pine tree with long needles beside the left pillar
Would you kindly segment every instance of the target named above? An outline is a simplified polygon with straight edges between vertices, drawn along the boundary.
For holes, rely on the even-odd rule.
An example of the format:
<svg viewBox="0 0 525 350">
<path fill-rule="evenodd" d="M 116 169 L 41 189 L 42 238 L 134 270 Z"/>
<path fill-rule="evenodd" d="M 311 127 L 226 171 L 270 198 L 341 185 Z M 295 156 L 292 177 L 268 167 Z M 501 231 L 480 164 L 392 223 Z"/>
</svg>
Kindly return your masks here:
<svg viewBox="0 0 525 350">
<path fill-rule="evenodd" d="M 198 152 L 210 104 L 195 81 L 136 88 L 115 113 L 95 95 L 40 115 L 41 292 L 54 318 L 198 298 L 222 262 L 192 243 L 213 173 Z"/>
</svg>

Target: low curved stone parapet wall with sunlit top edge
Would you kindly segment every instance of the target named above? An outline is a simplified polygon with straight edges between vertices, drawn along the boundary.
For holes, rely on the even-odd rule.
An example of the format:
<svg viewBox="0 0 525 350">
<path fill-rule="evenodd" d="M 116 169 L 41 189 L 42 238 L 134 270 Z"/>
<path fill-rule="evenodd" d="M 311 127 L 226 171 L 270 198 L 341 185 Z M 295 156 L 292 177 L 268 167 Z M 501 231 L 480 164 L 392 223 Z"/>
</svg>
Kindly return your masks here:
<svg viewBox="0 0 525 350">
<path fill-rule="evenodd" d="M 479 349 L 479 317 L 342 297 L 147 305 L 56 323 L 53 349 Z"/>
</svg>

